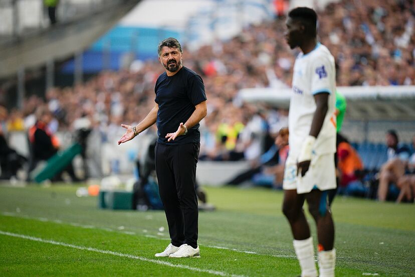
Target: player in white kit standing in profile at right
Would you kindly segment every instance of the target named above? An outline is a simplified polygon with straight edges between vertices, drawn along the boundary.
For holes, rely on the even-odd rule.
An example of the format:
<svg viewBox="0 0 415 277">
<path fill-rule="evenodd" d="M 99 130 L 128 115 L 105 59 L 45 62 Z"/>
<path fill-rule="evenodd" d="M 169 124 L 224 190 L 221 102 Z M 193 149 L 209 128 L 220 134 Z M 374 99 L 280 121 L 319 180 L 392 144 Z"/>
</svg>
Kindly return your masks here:
<svg viewBox="0 0 415 277">
<path fill-rule="evenodd" d="M 335 65 L 329 50 L 317 41 L 317 14 L 309 8 L 289 12 L 285 38 L 302 51 L 295 61 L 289 111 L 289 145 L 284 173 L 283 213 L 294 236 L 301 276 L 334 276 L 334 224 L 327 190 L 336 187 Z M 318 264 L 304 215 L 307 200 L 317 225 Z"/>
</svg>

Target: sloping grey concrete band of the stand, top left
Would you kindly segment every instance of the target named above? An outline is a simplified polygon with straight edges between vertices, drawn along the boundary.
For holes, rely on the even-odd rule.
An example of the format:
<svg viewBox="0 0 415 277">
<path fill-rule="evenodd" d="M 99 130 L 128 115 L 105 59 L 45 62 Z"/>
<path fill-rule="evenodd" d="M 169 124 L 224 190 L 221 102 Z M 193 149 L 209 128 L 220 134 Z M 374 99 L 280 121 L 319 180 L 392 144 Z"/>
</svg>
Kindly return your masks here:
<svg viewBox="0 0 415 277">
<path fill-rule="evenodd" d="M 22 68 L 36 69 L 51 60 L 64 60 L 82 53 L 140 1 L 114 0 L 91 14 L 2 43 L 0 79 Z"/>
</svg>

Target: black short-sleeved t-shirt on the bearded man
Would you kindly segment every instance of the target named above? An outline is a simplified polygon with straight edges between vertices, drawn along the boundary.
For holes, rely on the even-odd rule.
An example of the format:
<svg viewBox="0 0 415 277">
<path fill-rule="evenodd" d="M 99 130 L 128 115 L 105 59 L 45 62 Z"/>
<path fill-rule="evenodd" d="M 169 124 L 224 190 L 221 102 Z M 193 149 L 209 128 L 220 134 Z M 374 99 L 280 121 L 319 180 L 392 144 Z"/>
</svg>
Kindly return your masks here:
<svg viewBox="0 0 415 277">
<path fill-rule="evenodd" d="M 164 72 L 158 77 L 154 91 L 158 104 L 157 142 L 166 145 L 199 143 L 199 123 L 188 128 L 186 135 L 177 136 L 174 141 L 167 142 L 165 136 L 175 132 L 180 123 L 184 124 L 193 113 L 194 106 L 206 100 L 200 76 L 184 66 L 171 77 Z"/>
</svg>

